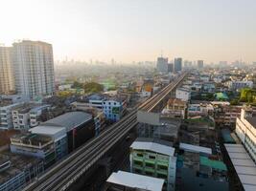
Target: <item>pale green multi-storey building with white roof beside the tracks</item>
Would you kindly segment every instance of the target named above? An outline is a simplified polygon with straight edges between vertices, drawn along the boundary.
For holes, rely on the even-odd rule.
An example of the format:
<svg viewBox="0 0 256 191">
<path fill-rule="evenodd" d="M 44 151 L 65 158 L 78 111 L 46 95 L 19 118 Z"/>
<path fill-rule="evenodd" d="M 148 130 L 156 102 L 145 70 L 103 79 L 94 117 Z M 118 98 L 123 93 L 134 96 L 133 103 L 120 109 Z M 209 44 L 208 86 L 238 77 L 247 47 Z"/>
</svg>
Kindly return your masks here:
<svg viewBox="0 0 256 191">
<path fill-rule="evenodd" d="M 175 190 L 176 158 L 171 142 L 137 138 L 130 146 L 130 171 L 164 179 L 163 190 Z"/>
</svg>

